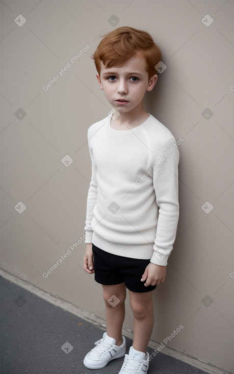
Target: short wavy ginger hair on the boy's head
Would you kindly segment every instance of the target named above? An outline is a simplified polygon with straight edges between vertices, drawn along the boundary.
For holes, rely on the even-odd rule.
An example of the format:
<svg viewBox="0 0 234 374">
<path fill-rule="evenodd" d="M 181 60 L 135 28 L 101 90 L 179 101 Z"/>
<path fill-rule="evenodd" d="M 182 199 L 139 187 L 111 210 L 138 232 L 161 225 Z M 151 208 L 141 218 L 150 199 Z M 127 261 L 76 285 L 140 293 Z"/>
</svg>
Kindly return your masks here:
<svg viewBox="0 0 234 374">
<path fill-rule="evenodd" d="M 105 38 L 91 56 L 99 76 L 101 61 L 106 68 L 121 67 L 129 57 L 136 54 L 145 58 L 148 78 L 157 74 L 154 66 L 161 61 L 161 50 L 146 31 L 122 26 L 101 36 Z"/>
</svg>

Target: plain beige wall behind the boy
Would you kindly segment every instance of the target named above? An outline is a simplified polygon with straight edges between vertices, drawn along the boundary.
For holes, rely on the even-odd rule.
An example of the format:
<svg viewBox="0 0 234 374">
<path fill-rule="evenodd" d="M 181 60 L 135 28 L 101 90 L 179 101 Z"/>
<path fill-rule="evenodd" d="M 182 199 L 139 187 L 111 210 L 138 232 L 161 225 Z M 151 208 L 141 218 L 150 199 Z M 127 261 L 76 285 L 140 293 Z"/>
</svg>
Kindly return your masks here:
<svg viewBox="0 0 234 374">
<path fill-rule="evenodd" d="M 234 2 L 8 0 L 0 11 L 1 268 L 105 316 L 101 287 L 83 271 L 83 239 L 52 274 L 42 274 L 84 235 L 87 130 L 111 109 L 90 58 L 98 36 L 122 25 L 146 30 L 167 69 L 145 108 L 184 139 L 177 238 L 166 282 L 154 293 L 152 339 L 162 342 L 183 325 L 168 346 L 234 372 Z M 201 21 L 207 14 L 210 25 L 209 17 Z M 67 154 L 69 166 L 61 162 Z M 124 324 L 132 329 L 128 300 L 126 312 Z"/>
</svg>

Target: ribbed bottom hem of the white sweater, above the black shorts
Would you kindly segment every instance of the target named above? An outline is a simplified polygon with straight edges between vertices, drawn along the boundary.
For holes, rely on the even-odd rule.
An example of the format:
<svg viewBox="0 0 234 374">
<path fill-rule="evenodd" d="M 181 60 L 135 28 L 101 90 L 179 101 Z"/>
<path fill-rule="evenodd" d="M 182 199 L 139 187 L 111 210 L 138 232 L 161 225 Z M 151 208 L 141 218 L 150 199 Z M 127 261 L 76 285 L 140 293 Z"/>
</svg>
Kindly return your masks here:
<svg viewBox="0 0 234 374">
<path fill-rule="evenodd" d="M 153 255 L 153 243 L 150 244 L 138 244 L 138 245 L 124 245 L 118 243 L 111 243 L 93 232 L 92 243 L 106 251 L 117 256 L 138 258 L 141 260 L 150 260 Z"/>
</svg>

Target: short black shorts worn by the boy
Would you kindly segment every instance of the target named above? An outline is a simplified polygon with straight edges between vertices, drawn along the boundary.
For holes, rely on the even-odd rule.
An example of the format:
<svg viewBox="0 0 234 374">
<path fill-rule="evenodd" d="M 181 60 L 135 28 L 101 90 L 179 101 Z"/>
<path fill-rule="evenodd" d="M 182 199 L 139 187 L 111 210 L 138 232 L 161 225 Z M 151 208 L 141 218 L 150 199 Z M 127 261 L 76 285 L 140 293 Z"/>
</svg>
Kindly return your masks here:
<svg viewBox="0 0 234 374">
<path fill-rule="evenodd" d="M 113 255 L 92 246 L 94 255 L 94 277 L 97 283 L 103 285 L 114 285 L 125 283 L 125 286 L 134 292 L 149 292 L 155 286 L 144 286 L 141 282 L 146 266 L 150 260 L 141 260 Z"/>
</svg>

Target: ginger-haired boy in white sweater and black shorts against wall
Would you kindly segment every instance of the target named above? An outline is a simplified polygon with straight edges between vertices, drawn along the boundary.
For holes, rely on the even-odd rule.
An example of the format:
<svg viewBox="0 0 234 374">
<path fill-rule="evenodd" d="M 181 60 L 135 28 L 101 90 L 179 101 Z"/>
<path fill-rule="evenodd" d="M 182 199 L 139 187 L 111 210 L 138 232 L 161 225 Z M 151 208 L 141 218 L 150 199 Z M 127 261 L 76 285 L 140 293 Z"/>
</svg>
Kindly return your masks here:
<svg viewBox="0 0 234 374">
<path fill-rule="evenodd" d="M 92 58 L 114 112 L 88 129 L 92 177 L 84 269 L 102 285 L 107 332 L 84 365 L 99 369 L 125 356 L 119 374 L 145 374 L 152 293 L 165 280 L 178 222 L 179 154 L 169 129 L 143 108 L 161 61 L 151 36 L 120 27 L 105 35 Z M 134 315 L 129 354 L 122 336 L 126 288 Z"/>
</svg>

